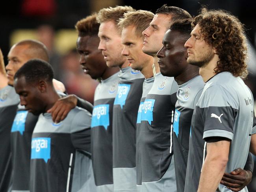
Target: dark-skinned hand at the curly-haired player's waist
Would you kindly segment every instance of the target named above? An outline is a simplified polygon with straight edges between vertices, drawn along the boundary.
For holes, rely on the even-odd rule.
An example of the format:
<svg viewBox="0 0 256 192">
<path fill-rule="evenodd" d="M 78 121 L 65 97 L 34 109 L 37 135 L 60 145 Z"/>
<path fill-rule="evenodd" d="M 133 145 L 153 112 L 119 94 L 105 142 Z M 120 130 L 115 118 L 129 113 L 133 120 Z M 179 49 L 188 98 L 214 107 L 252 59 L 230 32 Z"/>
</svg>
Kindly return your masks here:
<svg viewBox="0 0 256 192">
<path fill-rule="evenodd" d="M 234 171 L 224 173 L 221 184 L 227 186 L 230 190 L 238 192 L 243 189 L 252 181 L 252 172 L 249 170 L 243 170 L 242 168 L 237 168 Z"/>
</svg>

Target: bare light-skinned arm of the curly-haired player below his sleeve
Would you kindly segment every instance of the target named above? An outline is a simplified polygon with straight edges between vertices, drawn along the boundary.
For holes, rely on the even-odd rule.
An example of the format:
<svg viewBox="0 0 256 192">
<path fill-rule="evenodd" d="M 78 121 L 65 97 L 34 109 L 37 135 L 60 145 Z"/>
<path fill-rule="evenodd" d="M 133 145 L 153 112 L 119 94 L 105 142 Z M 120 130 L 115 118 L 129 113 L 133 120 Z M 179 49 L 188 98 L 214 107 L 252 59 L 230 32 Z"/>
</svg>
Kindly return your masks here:
<svg viewBox="0 0 256 192">
<path fill-rule="evenodd" d="M 207 155 L 202 166 L 198 192 L 215 192 L 226 169 L 230 140 L 207 142 L 206 148 Z"/>
</svg>

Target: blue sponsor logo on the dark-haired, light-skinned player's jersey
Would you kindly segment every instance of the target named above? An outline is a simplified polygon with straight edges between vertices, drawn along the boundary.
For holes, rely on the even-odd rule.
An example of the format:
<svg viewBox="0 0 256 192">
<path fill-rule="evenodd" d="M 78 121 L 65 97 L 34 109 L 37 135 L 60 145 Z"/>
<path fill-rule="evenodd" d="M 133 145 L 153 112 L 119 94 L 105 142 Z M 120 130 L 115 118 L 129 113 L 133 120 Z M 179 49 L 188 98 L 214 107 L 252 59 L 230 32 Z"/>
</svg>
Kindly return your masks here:
<svg viewBox="0 0 256 192">
<path fill-rule="evenodd" d="M 145 120 L 151 125 L 153 121 L 153 109 L 154 109 L 155 100 L 154 99 L 146 99 L 142 109 L 141 109 L 141 121 Z"/>
</svg>

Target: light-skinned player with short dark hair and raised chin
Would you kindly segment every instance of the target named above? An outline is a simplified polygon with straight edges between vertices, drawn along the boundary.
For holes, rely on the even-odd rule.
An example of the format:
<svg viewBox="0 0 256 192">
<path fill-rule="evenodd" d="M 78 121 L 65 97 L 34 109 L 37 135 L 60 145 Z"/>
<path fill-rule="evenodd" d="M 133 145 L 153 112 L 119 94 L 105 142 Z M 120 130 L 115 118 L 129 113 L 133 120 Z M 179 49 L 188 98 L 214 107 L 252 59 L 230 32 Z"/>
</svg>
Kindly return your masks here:
<svg viewBox="0 0 256 192">
<path fill-rule="evenodd" d="M 176 191 L 174 161 L 172 159 L 171 126 L 178 85 L 173 77 L 160 73 L 157 52 L 171 20 L 190 18 L 178 7 L 162 6 L 156 11 L 150 26 L 143 31 L 143 52 L 154 57 L 156 76 L 141 110 L 141 137 L 138 138 L 138 164 L 141 169 L 142 191 Z M 152 169 L 148 169 L 152 167 Z"/>
</svg>

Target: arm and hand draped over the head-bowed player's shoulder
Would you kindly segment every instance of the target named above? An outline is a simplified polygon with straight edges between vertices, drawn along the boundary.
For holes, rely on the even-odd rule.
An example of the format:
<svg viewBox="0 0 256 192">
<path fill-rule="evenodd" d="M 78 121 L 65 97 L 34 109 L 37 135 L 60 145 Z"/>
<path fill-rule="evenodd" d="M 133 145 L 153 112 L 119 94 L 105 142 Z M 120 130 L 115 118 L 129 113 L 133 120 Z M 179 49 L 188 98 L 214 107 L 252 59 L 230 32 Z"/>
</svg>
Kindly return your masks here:
<svg viewBox="0 0 256 192">
<path fill-rule="evenodd" d="M 91 103 L 71 94 L 60 98 L 47 113 L 51 113 L 53 122 L 58 123 L 65 119 L 69 111 L 76 106 L 86 109 L 90 113 L 93 112 L 93 105 Z"/>
</svg>

